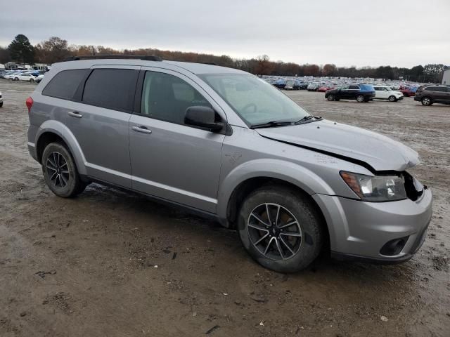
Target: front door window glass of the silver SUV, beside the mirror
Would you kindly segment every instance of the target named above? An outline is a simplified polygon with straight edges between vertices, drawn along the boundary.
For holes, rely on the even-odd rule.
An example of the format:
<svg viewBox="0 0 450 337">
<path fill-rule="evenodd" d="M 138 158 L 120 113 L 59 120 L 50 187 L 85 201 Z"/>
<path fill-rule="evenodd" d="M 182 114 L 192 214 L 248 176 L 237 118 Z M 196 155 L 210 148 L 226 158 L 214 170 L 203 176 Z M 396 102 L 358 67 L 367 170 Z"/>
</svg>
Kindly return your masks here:
<svg viewBox="0 0 450 337">
<path fill-rule="evenodd" d="M 194 105 L 212 107 L 203 95 L 179 77 L 162 72 L 146 72 L 141 96 L 141 114 L 184 124 L 186 109 Z"/>
</svg>

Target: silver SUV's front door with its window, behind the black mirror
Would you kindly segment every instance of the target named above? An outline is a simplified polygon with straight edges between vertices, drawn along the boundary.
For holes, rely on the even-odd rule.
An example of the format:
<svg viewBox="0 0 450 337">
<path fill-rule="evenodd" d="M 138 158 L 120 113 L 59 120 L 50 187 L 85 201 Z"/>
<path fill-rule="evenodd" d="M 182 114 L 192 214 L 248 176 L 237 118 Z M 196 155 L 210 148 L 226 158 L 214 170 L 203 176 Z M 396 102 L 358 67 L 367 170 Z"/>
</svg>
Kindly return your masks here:
<svg viewBox="0 0 450 337">
<path fill-rule="evenodd" d="M 215 213 L 225 136 L 185 125 L 184 114 L 195 105 L 212 107 L 221 119 L 224 112 L 192 79 L 152 67 L 143 67 L 135 102 L 139 108 L 129 123 L 132 188 Z"/>
</svg>

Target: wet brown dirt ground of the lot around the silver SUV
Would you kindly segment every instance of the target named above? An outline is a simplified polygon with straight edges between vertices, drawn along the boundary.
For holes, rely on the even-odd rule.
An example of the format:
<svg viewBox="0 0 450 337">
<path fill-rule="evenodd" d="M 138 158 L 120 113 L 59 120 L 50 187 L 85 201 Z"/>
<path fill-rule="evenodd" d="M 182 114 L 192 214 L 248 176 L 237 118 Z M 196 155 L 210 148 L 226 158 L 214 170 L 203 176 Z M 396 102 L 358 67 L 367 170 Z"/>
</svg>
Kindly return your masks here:
<svg viewBox="0 0 450 337">
<path fill-rule="evenodd" d="M 184 210 L 100 185 L 53 195 L 26 148 L 34 86 L 0 80 L 0 336 L 450 336 L 450 106 L 288 93 L 418 151 L 435 199 L 409 262 L 324 256 L 283 275 Z"/>
</svg>

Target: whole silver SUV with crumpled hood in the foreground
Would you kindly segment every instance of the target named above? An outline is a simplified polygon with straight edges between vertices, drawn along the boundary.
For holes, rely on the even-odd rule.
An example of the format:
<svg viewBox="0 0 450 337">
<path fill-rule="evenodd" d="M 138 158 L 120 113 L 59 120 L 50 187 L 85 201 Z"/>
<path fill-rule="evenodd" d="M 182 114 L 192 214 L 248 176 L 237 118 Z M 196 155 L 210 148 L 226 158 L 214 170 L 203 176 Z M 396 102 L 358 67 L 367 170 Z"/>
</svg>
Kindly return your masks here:
<svg viewBox="0 0 450 337">
<path fill-rule="evenodd" d="M 312 116 L 246 72 L 152 57 L 60 62 L 27 99 L 49 188 L 105 183 L 214 216 L 258 263 L 321 252 L 395 263 L 420 248 L 432 194 L 409 147 Z"/>
</svg>

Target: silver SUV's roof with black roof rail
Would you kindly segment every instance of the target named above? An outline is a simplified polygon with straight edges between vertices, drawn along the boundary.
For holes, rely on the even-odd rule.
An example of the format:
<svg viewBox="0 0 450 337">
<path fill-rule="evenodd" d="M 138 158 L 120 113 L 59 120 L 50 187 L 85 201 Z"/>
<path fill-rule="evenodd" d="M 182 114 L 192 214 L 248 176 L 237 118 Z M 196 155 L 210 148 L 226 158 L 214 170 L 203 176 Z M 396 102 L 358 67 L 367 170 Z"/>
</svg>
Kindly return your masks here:
<svg viewBox="0 0 450 337">
<path fill-rule="evenodd" d="M 94 60 L 70 60 L 66 62 L 58 62 L 53 64 L 57 68 L 76 69 L 79 67 L 92 67 L 94 65 L 135 65 L 141 67 L 158 67 L 168 70 L 176 70 L 176 68 L 183 68 L 193 74 L 248 74 L 242 70 L 237 70 L 228 67 L 220 67 L 218 65 L 208 65 L 204 63 L 194 62 L 178 62 L 178 61 L 149 61 L 139 59 L 94 59 Z"/>
</svg>

